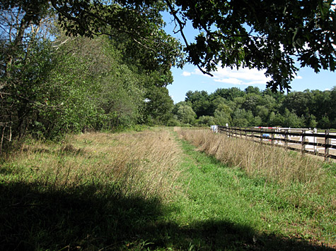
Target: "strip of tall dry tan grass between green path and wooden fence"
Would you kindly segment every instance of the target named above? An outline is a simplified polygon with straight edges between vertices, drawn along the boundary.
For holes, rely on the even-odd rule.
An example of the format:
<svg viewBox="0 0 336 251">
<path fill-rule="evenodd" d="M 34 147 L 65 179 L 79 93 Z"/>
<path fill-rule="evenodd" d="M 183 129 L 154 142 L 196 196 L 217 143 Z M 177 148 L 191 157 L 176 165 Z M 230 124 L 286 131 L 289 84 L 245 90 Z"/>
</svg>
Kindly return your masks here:
<svg viewBox="0 0 336 251">
<path fill-rule="evenodd" d="M 238 166 L 250 175 L 258 175 L 280 183 L 311 184 L 321 180 L 321 161 L 286 151 L 280 147 L 261 145 L 251 140 L 232 138 L 210 130 L 179 130 L 183 139 L 200 151 L 229 166 Z"/>
</svg>

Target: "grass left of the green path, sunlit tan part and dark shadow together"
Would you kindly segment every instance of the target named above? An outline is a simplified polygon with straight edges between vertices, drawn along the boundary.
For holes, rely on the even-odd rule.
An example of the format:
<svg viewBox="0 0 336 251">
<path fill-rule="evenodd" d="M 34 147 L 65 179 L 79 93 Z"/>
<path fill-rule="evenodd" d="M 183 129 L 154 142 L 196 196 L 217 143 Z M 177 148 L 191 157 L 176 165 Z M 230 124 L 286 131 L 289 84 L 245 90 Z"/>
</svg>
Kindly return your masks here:
<svg viewBox="0 0 336 251">
<path fill-rule="evenodd" d="M 0 166 L 1 250 L 120 249 L 172 200 L 179 156 L 168 131 L 23 144 Z"/>
</svg>

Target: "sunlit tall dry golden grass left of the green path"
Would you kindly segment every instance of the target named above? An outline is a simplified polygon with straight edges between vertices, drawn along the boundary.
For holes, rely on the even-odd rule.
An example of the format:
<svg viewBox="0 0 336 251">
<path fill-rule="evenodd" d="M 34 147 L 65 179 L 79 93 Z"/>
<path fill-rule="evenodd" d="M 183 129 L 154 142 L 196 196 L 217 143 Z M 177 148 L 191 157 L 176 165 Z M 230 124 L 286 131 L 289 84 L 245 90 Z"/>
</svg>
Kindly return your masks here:
<svg viewBox="0 0 336 251">
<path fill-rule="evenodd" d="M 54 190 L 91 185 L 96 192 L 109 187 L 123 196 L 168 200 L 179 158 L 180 148 L 165 130 L 72 135 L 62 145 L 33 142 L 6 157 L 6 164 L 18 180 Z"/>
</svg>

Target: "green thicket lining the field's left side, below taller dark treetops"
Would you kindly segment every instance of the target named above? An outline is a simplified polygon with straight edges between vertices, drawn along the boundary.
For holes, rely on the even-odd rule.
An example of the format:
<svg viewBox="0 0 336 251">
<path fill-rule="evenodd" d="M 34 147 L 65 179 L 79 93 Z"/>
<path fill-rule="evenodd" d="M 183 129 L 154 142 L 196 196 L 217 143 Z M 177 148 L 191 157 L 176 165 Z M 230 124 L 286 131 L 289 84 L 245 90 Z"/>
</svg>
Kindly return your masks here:
<svg viewBox="0 0 336 251">
<path fill-rule="evenodd" d="M 163 123 L 173 108 L 166 89 L 171 76 L 158 79 L 123 57 L 108 37 L 32 42 L 23 59 L 29 63 L 12 71 L 2 93 L 1 133 L 54 138 L 70 130 Z"/>
</svg>

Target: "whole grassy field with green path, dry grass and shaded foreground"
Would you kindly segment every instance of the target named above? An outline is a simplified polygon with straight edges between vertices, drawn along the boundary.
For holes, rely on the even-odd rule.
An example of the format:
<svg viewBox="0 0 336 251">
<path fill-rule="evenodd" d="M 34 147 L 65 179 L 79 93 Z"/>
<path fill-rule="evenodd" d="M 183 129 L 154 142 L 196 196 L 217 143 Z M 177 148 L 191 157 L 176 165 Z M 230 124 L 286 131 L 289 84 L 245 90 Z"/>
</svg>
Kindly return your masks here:
<svg viewBox="0 0 336 251">
<path fill-rule="evenodd" d="M 335 166 L 245 144 L 168 129 L 26 141 L 0 163 L 0 249 L 335 250 Z"/>
</svg>

